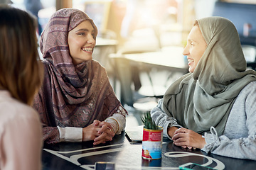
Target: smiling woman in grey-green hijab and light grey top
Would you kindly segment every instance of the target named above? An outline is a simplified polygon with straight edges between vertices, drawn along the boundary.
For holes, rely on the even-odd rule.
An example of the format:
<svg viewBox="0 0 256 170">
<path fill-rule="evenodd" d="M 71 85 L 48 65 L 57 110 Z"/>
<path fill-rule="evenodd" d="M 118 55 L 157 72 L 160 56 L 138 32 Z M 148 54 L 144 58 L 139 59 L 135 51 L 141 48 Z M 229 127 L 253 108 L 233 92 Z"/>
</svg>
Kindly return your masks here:
<svg viewBox="0 0 256 170">
<path fill-rule="evenodd" d="M 256 72 L 228 19 L 196 21 L 183 51 L 189 72 L 151 111 L 174 145 L 256 160 Z"/>
</svg>

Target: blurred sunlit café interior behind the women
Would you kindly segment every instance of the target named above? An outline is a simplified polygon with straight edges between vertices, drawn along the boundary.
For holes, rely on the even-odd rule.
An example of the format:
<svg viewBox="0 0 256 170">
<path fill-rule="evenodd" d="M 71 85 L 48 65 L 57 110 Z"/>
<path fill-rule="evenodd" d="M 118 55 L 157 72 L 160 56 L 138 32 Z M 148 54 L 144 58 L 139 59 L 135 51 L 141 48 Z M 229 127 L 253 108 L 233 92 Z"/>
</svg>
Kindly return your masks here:
<svg viewBox="0 0 256 170">
<path fill-rule="evenodd" d="M 12 3 L 26 9 L 23 0 Z M 42 0 L 41 3 L 38 23 L 42 28 L 60 8 L 79 8 L 95 22 L 99 32 L 92 56 L 107 70 L 114 92 L 129 113 L 127 128 L 142 125 L 142 113 L 154 108 L 169 85 L 188 73 L 182 52 L 198 18 L 223 16 L 232 21 L 240 36 L 247 67 L 256 68 L 255 1 Z"/>
</svg>

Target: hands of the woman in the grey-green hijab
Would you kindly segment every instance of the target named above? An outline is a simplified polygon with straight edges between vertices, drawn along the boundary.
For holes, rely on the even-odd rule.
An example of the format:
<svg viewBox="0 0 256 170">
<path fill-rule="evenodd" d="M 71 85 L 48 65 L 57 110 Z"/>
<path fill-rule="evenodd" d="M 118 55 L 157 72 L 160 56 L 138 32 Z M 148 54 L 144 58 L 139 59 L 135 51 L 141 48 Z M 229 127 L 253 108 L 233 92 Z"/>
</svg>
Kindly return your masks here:
<svg viewBox="0 0 256 170">
<path fill-rule="evenodd" d="M 179 128 L 176 130 L 171 140 L 174 141 L 174 145 L 183 148 L 188 147 L 188 149 L 202 149 L 204 145 L 206 145 L 206 140 L 202 135 L 186 128 Z"/>
</svg>

